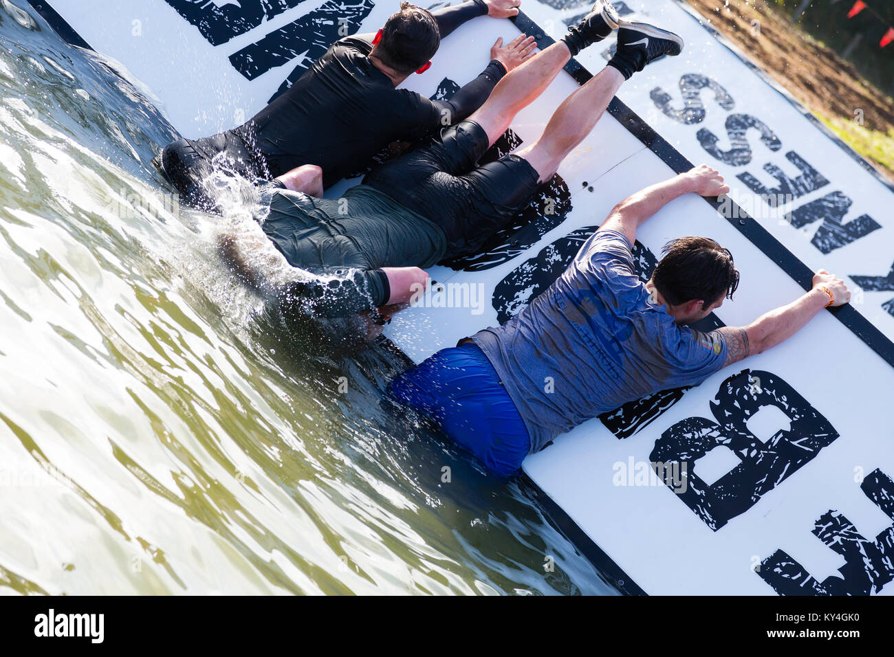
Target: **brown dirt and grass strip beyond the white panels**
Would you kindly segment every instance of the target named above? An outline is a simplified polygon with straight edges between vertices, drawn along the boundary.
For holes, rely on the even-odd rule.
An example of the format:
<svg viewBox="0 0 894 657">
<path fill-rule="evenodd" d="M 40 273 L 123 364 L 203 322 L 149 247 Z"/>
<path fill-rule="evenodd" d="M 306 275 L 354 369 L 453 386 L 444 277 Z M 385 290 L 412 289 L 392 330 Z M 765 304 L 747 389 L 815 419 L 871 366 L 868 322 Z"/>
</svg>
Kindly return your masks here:
<svg viewBox="0 0 894 657">
<path fill-rule="evenodd" d="M 859 137 L 848 139 L 848 133 L 855 132 L 848 122 L 854 122 L 856 110 L 861 109 L 863 127 L 881 134 L 883 147 L 887 149 L 886 138 L 894 135 L 894 106 L 890 97 L 863 80 L 850 63 L 805 35 L 788 16 L 764 0 L 687 0 L 687 3 L 781 87 L 831 123 L 842 139 L 894 181 L 894 169 L 887 157 L 873 157 L 871 151 L 861 147 Z M 760 21 L 759 30 L 753 27 L 754 20 Z"/>
</svg>

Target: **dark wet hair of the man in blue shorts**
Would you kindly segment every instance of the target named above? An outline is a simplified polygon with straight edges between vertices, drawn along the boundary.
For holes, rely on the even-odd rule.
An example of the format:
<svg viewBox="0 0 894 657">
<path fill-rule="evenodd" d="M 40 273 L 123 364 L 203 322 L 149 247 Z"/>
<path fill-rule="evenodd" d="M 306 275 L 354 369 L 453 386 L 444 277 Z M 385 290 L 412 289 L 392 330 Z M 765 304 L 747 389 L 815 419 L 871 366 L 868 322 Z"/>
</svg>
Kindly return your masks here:
<svg viewBox="0 0 894 657">
<path fill-rule="evenodd" d="M 671 306 L 703 299 L 702 309 L 721 294 L 732 299 L 738 288 L 738 269 L 730 249 L 706 237 L 681 237 L 662 249 L 652 274 L 655 288 Z"/>
</svg>

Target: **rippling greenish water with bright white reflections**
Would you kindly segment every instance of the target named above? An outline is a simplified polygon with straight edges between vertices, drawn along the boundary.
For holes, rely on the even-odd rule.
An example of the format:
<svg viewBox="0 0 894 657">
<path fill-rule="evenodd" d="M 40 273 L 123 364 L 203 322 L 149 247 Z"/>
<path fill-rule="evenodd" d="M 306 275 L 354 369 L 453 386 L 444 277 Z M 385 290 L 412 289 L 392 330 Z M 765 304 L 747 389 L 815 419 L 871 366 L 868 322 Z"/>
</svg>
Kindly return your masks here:
<svg viewBox="0 0 894 657">
<path fill-rule="evenodd" d="M 612 593 L 384 412 L 399 355 L 266 319 L 151 166 L 164 117 L 36 21 L 0 6 L 0 591 Z"/>
</svg>

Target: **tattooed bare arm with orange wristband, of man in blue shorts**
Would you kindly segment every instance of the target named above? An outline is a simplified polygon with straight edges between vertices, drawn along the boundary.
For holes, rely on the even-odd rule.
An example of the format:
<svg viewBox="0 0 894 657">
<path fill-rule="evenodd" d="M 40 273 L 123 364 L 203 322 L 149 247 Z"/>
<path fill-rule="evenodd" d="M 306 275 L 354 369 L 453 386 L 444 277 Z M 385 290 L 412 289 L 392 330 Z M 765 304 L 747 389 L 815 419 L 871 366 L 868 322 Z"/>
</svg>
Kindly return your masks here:
<svg viewBox="0 0 894 657">
<path fill-rule="evenodd" d="M 850 300 L 850 291 L 838 276 L 821 269 L 814 275 L 811 291 L 789 303 L 771 310 L 747 326 L 723 326 L 719 333 L 727 343 L 724 366 L 732 365 L 750 354 L 775 347 L 804 328 L 827 305 L 842 306 Z"/>
</svg>

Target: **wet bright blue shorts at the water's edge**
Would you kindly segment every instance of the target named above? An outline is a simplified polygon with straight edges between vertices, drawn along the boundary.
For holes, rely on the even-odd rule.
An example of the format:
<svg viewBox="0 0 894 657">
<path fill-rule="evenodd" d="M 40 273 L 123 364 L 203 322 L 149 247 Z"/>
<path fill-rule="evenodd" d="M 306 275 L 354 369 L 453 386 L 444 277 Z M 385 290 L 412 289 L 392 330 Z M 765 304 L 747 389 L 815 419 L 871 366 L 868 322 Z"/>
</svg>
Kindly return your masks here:
<svg viewBox="0 0 894 657">
<path fill-rule="evenodd" d="M 497 475 L 517 474 L 531 449 L 519 410 L 473 343 L 438 351 L 396 377 L 388 392 L 431 417 Z"/>
</svg>

